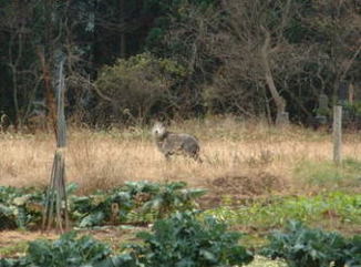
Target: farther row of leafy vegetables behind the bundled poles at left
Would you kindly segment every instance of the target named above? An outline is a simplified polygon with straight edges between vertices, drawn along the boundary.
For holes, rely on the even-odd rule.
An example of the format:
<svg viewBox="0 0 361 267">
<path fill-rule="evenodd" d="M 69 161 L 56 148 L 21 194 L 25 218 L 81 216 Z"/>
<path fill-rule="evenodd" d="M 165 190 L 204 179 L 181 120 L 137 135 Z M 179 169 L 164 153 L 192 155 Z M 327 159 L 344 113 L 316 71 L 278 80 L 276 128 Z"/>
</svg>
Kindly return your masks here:
<svg viewBox="0 0 361 267">
<path fill-rule="evenodd" d="M 174 210 L 193 209 L 205 189 L 185 188 L 186 183 L 130 182 L 111 191 L 75 195 L 69 184 L 70 218 L 79 227 L 118 223 L 148 223 Z M 44 193 L 35 188 L 0 186 L 0 229 L 37 227 L 41 222 Z"/>
</svg>

